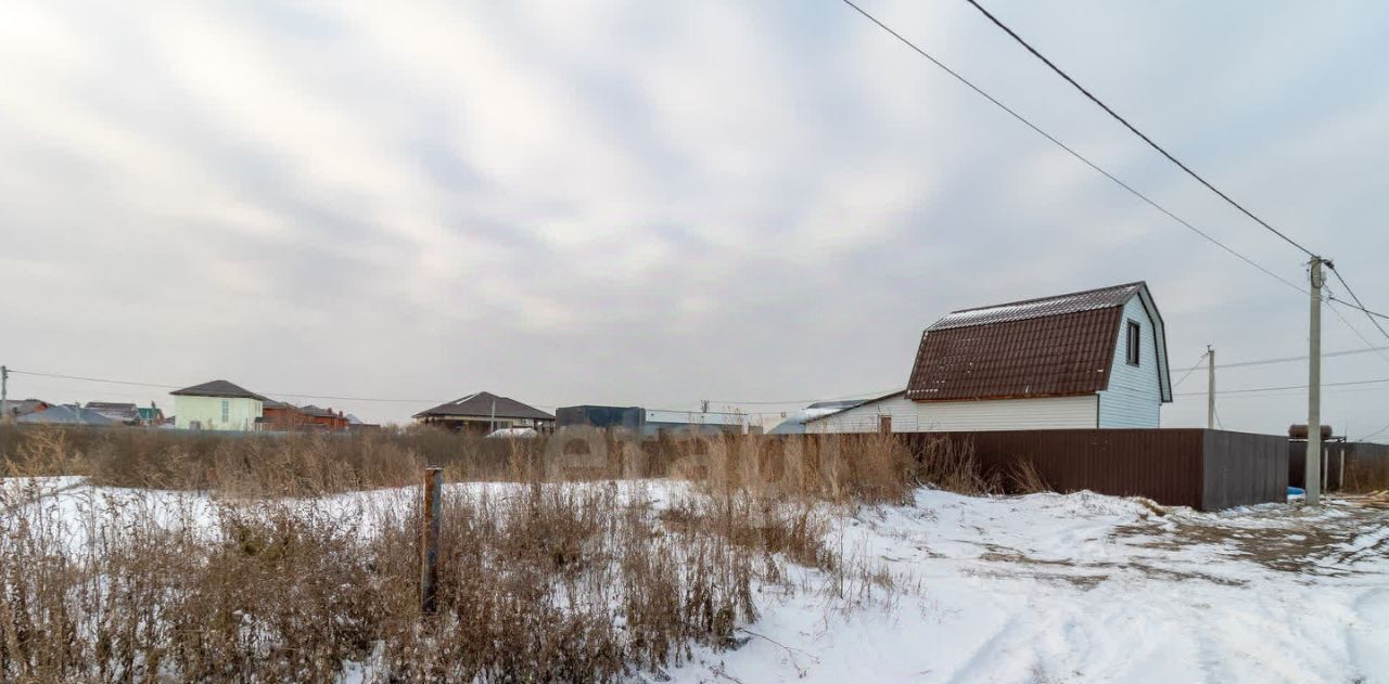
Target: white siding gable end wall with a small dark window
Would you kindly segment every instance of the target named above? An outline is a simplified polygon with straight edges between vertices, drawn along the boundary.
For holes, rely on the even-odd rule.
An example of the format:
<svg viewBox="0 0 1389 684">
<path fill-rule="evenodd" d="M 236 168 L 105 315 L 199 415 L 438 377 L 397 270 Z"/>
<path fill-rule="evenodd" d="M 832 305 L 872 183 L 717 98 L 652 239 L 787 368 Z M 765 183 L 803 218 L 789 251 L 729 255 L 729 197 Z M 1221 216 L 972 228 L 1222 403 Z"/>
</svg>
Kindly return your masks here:
<svg viewBox="0 0 1389 684">
<path fill-rule="evenodd" d="M 1125 347 L 1129 320 L 1142 327 L 1136 366 L 1128 364 Z M 1100 427 L 1158 427 L 1163 401 L 1157 384 L 1157 343 L 1153 319 L 1140 297 L 1133 297 L 1124 307 L 1114 365 L 1110 368 L 1110 387 L 1100 393 Z"/>
</svg>

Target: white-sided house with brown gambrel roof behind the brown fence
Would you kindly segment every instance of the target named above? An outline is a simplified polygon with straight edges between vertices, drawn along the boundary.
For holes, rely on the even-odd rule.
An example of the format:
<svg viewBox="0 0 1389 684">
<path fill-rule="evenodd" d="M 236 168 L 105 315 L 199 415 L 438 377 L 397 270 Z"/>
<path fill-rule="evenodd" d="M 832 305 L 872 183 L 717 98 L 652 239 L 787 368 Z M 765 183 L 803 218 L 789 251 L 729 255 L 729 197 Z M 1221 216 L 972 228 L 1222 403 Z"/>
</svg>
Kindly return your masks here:
<svg viewBox="0 0 1389 684">
<path fill-rule="evenodd" d="M 921 336 L 907 388 L 813 433 L 1158 427 L 1172 401 L 1146 283 L 956 311 Z"/>
</svg>

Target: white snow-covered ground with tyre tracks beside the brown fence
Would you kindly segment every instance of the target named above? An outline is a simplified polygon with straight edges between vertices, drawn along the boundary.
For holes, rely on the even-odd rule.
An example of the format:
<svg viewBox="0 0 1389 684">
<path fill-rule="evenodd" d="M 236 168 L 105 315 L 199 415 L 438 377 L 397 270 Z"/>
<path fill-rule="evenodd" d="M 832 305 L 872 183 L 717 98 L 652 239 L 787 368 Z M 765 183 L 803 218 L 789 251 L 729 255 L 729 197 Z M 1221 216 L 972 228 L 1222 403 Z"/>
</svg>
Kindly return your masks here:
<svg viewBox="0 0 1389 684">
<path fill-rule="evenodd" d="M 204 522 L 200 506 L 208 508 L 194 494 L 93 488 L 79 479 L 43 487 L 44 501 L 32 511 L 74 520 L 118 502 L 129 515 L 196 526 Z M 642 487 L 657 506 L 689 495 L 665 481 L 624 487 Z M 389 490 L 328 501 L 399 508 L 414 495 Z M 729 651 L 697 648 L 664 674 L 747 684 L 1389 683 L 1383 504 L 1200 513 L 1089 493 L 978 498 L 920 490 L 913 505 L 838 509 L 833 520 L 833 548 L 896 577 L 886 602 L 763 587 L 761 616 L 742 630 L 746 641 Z M 797 572 L 803 587 L 821 580 L 817 570 Z"/>
</svg>

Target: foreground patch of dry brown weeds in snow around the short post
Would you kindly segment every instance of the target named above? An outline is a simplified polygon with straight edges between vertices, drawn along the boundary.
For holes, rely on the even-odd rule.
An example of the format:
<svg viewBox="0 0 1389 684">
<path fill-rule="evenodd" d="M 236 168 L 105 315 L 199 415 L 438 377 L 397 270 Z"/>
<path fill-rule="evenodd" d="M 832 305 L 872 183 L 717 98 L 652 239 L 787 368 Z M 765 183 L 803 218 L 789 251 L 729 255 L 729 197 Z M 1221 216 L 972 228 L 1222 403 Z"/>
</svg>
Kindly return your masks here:
<svg viewBox="0 0 1389 684">
<path fill-rule="evenodd" d="M 26 499 L 0 520 L 0 678 L 611 681 L 756 615 L 750 548 L 667 530 L 632 487 L 532 483 L 446 490 L 422 619 L 401 502 Z"/>
</svg>

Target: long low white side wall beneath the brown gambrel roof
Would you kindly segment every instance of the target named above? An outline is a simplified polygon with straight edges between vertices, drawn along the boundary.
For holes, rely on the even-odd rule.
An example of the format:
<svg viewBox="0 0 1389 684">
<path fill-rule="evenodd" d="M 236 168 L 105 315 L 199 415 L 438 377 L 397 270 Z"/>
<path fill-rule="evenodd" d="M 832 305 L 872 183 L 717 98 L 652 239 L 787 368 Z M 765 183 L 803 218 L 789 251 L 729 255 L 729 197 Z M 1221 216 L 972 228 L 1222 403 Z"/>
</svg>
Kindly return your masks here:
<svg viewBox="0 0 1389 684">
<path fill-rule="evenodd" d="M 911 401 L 904 394 L 806 423 L 807 433 L 872 433 L 879 416 L 892 431 L 1060 430 L 1096 427 L 1096 395 L 1035 400 Z"/>
</svg>

